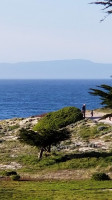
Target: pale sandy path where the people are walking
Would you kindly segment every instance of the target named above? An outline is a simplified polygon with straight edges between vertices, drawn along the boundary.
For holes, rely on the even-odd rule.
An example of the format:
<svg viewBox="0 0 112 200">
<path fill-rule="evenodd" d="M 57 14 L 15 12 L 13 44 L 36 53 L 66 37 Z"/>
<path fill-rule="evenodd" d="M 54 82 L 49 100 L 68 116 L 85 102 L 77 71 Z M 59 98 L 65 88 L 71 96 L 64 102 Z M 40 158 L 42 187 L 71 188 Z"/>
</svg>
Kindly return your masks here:
<svg viewBox="0 0 112 200">
<path fill-rule="evenodd" d="M 93 117 L 91 117 L 91 111 L 86 111 L 86 118 L 93 119 L 94 121 L 99 121 L 99 119 L 106 114 L 107 113 L 94 111 Z M 111 121 L 109 120 L 109 118 L 106 118 L 106 119 L 100 120 L 99 122 L 103 122 L 105 124 L 112 124 L 112 118 L 111 118 Z"/>
</svg>

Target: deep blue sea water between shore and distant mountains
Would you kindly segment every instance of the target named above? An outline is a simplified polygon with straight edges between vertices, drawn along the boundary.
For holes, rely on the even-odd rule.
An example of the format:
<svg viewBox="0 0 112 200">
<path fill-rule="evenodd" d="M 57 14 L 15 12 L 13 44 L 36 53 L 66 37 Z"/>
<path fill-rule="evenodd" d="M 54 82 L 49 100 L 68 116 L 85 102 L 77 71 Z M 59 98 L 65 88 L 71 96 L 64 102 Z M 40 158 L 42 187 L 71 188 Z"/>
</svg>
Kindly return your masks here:
<svg viewBox="0 0 112 200">
<path fill-rule="evenodd" d="M 0 119 L 28 117 L 76 106 L 101 107 L 89 88 L 112 80 L 0 80 Z"/>
</svg>

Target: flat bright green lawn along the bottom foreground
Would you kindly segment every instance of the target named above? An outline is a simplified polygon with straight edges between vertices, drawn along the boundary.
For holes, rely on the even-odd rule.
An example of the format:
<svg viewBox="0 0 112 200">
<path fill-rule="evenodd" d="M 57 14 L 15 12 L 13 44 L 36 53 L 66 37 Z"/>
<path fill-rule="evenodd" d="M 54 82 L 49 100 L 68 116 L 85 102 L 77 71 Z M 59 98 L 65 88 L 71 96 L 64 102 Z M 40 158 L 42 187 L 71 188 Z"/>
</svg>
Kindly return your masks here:
<svg viewBox="0 0 112 200">
<path fill-rule="evenodd" d="M 112 200 L 112 181 L 1 181 L 1 200 Z"/>
</svg>

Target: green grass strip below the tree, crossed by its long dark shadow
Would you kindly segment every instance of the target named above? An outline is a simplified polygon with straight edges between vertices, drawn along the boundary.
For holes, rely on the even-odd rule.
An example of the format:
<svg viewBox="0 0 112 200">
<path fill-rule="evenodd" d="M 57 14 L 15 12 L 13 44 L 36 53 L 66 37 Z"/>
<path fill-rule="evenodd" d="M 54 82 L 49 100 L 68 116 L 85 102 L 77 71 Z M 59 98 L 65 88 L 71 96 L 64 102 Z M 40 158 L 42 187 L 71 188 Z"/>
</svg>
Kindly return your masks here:
<svg viewBox="0 0 112 200">
<path fill-rule="evenodd" d="M 19 155 L 16 161 L 23 168 L 19 171 L 35 173 L 36 171 L 107 168 L 112 164 L 112 153 L 56 154 L 38 160 L 37 155 Z"/>
</svg>

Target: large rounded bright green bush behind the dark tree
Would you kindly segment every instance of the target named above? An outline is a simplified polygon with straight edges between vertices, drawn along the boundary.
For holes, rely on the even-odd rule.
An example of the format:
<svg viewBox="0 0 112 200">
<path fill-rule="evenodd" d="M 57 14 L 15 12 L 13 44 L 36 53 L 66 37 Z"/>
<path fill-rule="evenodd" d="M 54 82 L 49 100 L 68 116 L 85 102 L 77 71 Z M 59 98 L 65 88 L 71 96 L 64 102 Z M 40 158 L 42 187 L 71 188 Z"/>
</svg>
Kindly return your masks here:
<svg viewBox="0 0 112 200">
<path fill-rule="evenodd" d="M 65 107 L 61 110 L 48 113 L 34 127 L 34 131 L 42 133 L 47 130 L 47 132 L 50 132 L 51 130 L 57 130 L 81 119 L 83 119 L 83 116 L 78 108 Z"/>
</svg>

